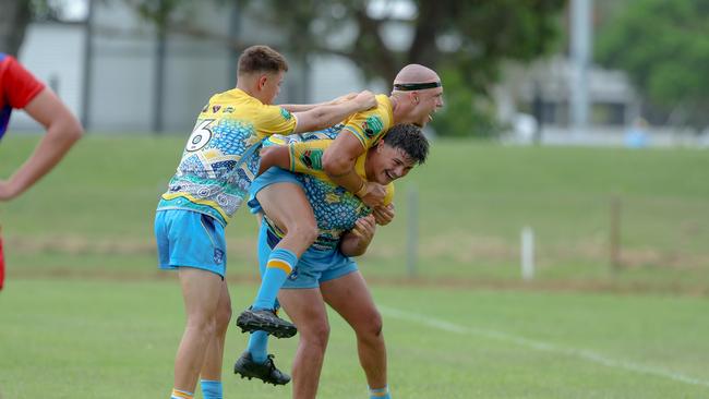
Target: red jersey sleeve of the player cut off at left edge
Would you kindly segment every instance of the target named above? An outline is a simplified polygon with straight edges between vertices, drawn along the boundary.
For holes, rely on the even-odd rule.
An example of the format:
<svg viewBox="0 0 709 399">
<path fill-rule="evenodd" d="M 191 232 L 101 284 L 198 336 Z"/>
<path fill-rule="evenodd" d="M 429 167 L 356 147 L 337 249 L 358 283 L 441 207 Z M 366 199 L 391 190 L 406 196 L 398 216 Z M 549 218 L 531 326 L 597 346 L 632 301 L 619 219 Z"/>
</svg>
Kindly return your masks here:
<svg viewBox="0 0 709 399">
<path fill-rule="evenodd" d="M 2 95 L 5 102 L 12 108 L 25 108 L 45 88 L 32 73 L 17 60 L 7 56 L 3 60 L 1 82 Z"/>
</svg>

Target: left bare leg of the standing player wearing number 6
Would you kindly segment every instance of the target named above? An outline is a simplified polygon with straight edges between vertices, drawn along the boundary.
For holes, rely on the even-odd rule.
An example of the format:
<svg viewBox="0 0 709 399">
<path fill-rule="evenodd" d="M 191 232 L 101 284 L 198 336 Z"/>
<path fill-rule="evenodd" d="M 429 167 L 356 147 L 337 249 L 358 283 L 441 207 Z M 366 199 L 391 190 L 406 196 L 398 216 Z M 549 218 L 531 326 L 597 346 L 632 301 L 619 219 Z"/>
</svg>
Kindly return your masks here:
<svg viewBox="0 0 709 399">
<path fill-rule="evenodd" d="M 211 271 L 180 267 L 187 326 L 175 360 L 175 388 L 194 392 L 205 352 L 215 336 L 215 314 L 221 295 L 221 278 Z"/>
</svg>

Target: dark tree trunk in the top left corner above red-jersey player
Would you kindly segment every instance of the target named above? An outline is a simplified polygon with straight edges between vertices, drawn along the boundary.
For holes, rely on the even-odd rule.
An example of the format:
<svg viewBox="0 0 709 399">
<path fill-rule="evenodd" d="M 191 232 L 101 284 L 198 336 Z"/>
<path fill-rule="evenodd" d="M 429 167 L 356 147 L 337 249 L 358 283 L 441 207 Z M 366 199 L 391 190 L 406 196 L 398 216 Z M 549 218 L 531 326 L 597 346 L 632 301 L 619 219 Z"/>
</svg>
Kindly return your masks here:
<svg viewBox="0 0 709 399">
<path fill-rule="evenodd" d="M 29 0 L 0 0 L 0 52 L 17 57 L 32 21 Z"/>
</svg>

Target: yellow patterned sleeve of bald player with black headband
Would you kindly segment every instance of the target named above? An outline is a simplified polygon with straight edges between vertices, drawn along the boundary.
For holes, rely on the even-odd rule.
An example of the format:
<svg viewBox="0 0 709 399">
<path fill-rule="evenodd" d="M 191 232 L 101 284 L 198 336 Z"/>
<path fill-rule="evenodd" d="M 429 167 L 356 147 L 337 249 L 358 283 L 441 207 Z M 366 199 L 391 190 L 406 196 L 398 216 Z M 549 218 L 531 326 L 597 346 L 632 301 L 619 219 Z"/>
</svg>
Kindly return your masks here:
<svg viewBox="0 0 709 399">
<path fill-rule="evenodd" d="M 345 120 L 345 131 L 352 133 L 364 148 L 371 148 L 394 124 L 392 100 L 376 96 L 376 107 L 354 113 Z"/>
</svg>

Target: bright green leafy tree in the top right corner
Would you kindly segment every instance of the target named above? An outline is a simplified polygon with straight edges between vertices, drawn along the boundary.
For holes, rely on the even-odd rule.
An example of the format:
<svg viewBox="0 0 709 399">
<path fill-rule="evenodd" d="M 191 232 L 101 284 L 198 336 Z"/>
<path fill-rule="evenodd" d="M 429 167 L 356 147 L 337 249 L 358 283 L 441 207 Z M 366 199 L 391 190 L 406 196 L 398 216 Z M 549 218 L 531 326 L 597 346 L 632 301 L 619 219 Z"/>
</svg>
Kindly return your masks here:
<svg viewBox="0 0 709 399">
<path fill-rule="evenodd" d="M 597 35 L 596 58 L 628 73 L 652 122 L 709 124 L 709 2 L 635 0 Z"/>
</svg>

